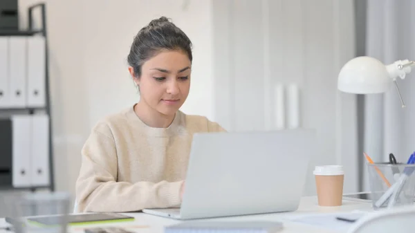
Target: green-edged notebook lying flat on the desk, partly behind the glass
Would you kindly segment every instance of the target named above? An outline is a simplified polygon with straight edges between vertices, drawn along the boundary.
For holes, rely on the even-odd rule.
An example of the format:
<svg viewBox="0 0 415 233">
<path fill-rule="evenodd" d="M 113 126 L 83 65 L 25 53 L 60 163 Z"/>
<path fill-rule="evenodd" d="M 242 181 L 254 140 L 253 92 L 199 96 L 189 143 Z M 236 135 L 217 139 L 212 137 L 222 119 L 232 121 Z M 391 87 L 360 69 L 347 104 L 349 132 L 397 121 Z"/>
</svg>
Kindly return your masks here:
<svg viewBox="0 0 415 233">
<path fill-rule="evenodd" d="M 68 225 L 134 221 L 133 217 L 118 213 L 69 214 L 66 218 Z M 33 224 L 56 225 L 62 223 L 62 215 L 33 216 L 27 220 Z"/>
</svg>

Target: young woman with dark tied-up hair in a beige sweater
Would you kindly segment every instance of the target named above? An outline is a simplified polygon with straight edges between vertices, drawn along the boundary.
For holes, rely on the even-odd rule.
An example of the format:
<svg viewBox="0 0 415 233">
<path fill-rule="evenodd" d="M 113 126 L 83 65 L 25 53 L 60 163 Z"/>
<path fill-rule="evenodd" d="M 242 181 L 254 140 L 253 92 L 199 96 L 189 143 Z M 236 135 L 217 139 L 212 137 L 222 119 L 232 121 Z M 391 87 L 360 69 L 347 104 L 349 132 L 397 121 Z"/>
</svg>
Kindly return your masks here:
<svg viewBox="0 0 415 233">
<path fill-rule="evenodd" d="M 102 119 L 82 149 L 79 212 L 130 212 L 181 204 L 193 133 L 225 131 L 178 109 L 190 90 L 192 43 L 167 18 L 133 40 L 129 73 L 140 100 Z"/>
</svg>

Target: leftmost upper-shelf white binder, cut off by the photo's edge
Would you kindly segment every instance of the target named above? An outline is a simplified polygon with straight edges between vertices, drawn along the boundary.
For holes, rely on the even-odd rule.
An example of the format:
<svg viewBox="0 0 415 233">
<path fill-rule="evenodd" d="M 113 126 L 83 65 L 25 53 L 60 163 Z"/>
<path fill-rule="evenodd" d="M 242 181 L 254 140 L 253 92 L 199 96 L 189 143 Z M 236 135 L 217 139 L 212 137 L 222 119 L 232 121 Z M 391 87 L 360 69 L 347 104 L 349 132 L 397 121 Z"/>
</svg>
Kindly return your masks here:
<svg viewBox="0 0 415 233">
<path fill-rule="evenodd" d="M 0 109 L 9 106 L 8 37 L 0 37 Z"/>
</svg>

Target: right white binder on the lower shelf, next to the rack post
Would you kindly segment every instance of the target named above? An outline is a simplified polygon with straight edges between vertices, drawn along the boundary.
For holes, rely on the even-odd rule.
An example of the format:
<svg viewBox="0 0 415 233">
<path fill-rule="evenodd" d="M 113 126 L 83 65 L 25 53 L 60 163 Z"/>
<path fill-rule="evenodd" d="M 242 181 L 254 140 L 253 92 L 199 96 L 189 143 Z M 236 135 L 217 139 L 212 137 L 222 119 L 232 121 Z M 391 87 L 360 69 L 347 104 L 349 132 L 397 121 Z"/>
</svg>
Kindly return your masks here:
<svg viewBox="0 0 415 233">
<path fill-rule="evenodd" d="M 48 115 L 32 115 L 32 167 L 31 184 L 47 186 L 49 180 L 49 118 Z"/>
</svg>

